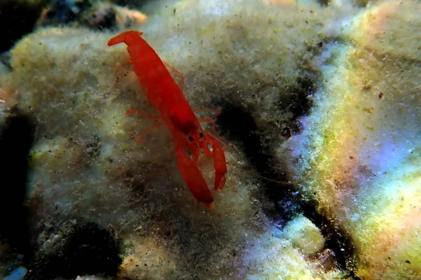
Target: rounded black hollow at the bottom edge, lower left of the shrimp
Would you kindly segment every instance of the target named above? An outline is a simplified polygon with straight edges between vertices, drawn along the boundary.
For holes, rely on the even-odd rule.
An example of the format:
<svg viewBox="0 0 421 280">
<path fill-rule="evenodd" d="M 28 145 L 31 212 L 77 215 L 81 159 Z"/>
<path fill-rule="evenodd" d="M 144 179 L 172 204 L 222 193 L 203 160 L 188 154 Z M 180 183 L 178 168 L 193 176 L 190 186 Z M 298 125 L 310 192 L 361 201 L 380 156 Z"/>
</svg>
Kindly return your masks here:
<svg viewBox="0 0 421 280">
<path fill-rule="evenodd" d="M 55 252 L 36 258 L 27 279 L 116 276 L 121 258 L 112 232 L 96 223 L 86 223 L 62 234 L 65 235 L 62 245 L 55 248 Z"/>
</svg>

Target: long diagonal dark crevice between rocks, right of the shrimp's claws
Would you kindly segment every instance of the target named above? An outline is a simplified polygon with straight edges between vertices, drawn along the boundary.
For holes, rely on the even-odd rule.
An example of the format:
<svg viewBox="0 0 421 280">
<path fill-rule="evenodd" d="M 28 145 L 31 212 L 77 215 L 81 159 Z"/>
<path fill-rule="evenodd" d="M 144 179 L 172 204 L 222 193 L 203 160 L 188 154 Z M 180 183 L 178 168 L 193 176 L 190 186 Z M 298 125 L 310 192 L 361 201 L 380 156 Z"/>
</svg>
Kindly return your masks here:
<svg viewBox="0 0 421 280">
<path fill-rule="evenodd" d="M 302 94 L 305 96 L 314 90 L 311 83 L 309 84 L 305 80 L 300 83 L 303 85 Z M 279 163 L 276 162 L 274 153 L 262 145 L 260 132 L 250 113 L 243 107 L 234 104 L 228 103 L 222 107 L 222 113 L 217 120 L 221 134 L 239 143 L 251 167 L 260 176 L 276 181 L 288 181 L 287 174 L 273 168 Z M 302 109 L 300 113 L 307 113 L 308 110 Z M 282 228 L 298 213 L 307 216 L 323 232 L 326 237 L 326 248 L 330 248 L 335 253 L 340 268 L 350 269 L 349 276 L 352 279 L 359 279 L 352 272 L 352 267 L 349 267 L 349 263 L 352 263 L 350 260 L 354 258 L 355 249 L 345 231 L 338 228 L 333 221 L 319 214 L 314 202 L 302 200 L 296 186 L 274 183 L 265 179 L 262 179 L 261 182 L 266 196 L 274 205 L 273 209 L 264 209 L 269 218 L 281 224 Z"/>
</svg>

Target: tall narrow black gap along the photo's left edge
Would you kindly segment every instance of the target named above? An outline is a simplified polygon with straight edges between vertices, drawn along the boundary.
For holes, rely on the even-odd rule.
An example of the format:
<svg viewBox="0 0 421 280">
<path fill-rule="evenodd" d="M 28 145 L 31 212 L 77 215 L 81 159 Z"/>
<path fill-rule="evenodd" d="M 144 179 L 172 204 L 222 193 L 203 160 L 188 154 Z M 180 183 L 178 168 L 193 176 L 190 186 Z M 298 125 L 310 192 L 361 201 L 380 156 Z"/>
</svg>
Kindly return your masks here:
<svg viewBox="0 0 421 280">
<path fill-rule="evenodd" d="M 11 116 L 0 130 L 0 237 L 10 242 L 15 253 L 27 256 L 29 228 L 24 203 L 34 126 L 27 116 Z"/>
</svg>

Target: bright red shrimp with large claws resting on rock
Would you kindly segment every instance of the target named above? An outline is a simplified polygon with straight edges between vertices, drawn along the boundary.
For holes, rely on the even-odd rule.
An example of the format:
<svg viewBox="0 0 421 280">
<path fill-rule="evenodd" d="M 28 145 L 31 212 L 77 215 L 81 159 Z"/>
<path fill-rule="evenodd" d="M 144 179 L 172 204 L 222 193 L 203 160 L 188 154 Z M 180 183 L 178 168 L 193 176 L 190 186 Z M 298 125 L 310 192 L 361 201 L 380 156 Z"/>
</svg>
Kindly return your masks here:
<svg viewBox="0 0 421 280">
<path fill-rule="evenodd" d="M 175 155 L 178 160 L 178 169 L 182 174 L 187 187 L 192 195 L 203 202 L 208 209 L 214 206 L 213 195 L 210 193 L 205 179 L 198 168 L 198 160 L 201 152 L 213 159 L 215 168 L 215 190 L 222 190 L 225 185 L 227 174 L 227 162 L 225 153 L 220 146 L 220 141 L 210 132 L 203 130 L 199 119 L 194 115 L 194 111 L 189 106 L 182 89 L 175 83 L 171 73 L 166 68 L 166 64 L 156 54 L 155 50 L 142 38 L 143 32 L 123 31 L 121 34 L 109 39 L 107 45 L 126 43 L 128 53 L 131 55 L 130 62 L 133 64 L 135 74 L 143 88 L 149 102 L 159 110 L 163 123 L 153 125 L 145 130 L 142 135 L 154 127 L 166 125 L 173 136 Z M 177 70 L 179 75 L 182 75 Z M 182 77 L 184 84 L 184 77 Z M 127 113 L 140 113 L 131 110 Z M 207 123 L 213 120 L 203 119 Z M 209 147 L 212 147 L 211 149 Z M 186 152 L 190 155 L 187 155 Z"/>
</svg>

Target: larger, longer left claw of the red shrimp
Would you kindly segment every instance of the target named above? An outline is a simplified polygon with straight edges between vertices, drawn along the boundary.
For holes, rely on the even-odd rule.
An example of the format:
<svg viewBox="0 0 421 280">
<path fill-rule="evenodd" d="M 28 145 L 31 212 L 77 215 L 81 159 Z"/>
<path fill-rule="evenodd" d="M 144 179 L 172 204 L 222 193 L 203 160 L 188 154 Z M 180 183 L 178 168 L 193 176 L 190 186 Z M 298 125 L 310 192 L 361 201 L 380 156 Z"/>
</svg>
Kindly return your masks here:
<svg viewBox="0 0 421 280">
<path fill-rule="evenodd" d="M 210 193 L 208 185 L 200 173 L 199 168 L 197 168 L 197 165 L 194 163 L 196 160 L 189 158 L 185 154 L 185 150 L 182 146 L 176 147 L 175 150 L 178 158 L 178 169 L 190 192 L 196 200 L 203 202 L 206 208 L 213 209 L 215 205 L 213 202 L 213 195 Z"/>
</svg>

